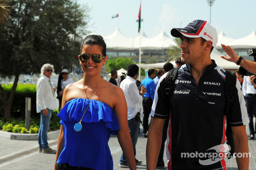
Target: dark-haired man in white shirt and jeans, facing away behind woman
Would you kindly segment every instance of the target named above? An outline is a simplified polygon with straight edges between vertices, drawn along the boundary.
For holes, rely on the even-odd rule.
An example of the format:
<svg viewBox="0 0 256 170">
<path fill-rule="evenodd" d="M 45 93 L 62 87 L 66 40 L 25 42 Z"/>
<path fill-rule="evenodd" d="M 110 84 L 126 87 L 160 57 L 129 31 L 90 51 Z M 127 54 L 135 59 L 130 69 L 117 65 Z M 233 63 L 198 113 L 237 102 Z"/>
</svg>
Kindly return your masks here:
<svg viewBox="0 0 256 170">
<path fill-rule="evenodd" d="M 144 86 L 141 86 L 140 91 L 138 90 L 135 80 L 138 75 L 139 67 L 136 64 L 130 64 L 127 66 L 126 78 L 120 83 L 120 88 L 124 91 L 124 96 L 128 107 L 128 127 L 132 138 L 134 157 L 136 155 L 135 145 L 139 136 L 140 113 L 143 112 L 143 109 L 141 108 L 143 99 L 142 96 L 147 91 Z M 135 162 L 136 164 L 141 164 L 141 160 L 137 160 L 136 158 Z M 124 153 L 121 156 L 119 166 L 128 167 Z"/>
</svg>

